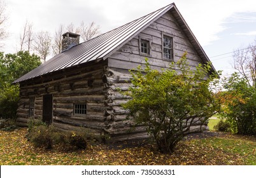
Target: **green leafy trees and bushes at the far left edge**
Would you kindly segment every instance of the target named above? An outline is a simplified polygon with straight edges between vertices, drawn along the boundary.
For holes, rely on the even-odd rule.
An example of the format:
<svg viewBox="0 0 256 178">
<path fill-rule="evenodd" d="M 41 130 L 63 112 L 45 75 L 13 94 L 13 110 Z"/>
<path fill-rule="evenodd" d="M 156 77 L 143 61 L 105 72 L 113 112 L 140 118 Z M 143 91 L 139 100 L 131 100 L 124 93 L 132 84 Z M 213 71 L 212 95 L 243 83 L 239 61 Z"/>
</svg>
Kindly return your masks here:
<svg viewBox="0 0 256 178">
<path fill-rule="evenodd" d="M 40 58 L 29 51 L 0 52 L 0 118 L 15 119 L 20 89 L 11 83 L 40 64 Z"/>
</svg>

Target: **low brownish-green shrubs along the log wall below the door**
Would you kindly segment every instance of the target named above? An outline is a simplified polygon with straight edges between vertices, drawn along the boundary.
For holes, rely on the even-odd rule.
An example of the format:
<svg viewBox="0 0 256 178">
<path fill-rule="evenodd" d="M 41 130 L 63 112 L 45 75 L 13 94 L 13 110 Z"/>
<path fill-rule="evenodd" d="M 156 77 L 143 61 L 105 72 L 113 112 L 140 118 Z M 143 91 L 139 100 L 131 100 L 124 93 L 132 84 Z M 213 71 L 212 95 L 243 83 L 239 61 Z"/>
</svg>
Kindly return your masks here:
<svg viewBox="0 0 256 178">
<path fill-rule="evenodd" d="M 108 135 L 94 135 L 87 128 L 80 127 L 74 131 L 60 131 L 53 125 L 46 125 L 41 120 L 31 118 L 28 122 L 27 139 L 36 147 L 52 149 L 60 146 L 66 150 L 86 149 L 88 143 L 104 142 Z"/>
</svg>

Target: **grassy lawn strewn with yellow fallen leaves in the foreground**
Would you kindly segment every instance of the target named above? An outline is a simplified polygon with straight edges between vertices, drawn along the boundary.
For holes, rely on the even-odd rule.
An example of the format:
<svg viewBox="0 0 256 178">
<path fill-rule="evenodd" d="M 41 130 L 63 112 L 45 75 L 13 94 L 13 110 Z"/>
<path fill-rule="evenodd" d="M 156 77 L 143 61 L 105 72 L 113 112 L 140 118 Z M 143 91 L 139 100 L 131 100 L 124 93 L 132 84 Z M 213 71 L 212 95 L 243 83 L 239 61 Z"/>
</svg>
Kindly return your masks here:
<svg viewBox="0 0 256 178">
<path fill-rule="evenodd" d="M 82 151 L 34 147 L 26 128 L 0 131 L 0 165 L 256 165 L 256 138 L 220 133 L 206 139 L 182 140 L 173 154 L 154 146 L 89 145 Z"/>
</svg>

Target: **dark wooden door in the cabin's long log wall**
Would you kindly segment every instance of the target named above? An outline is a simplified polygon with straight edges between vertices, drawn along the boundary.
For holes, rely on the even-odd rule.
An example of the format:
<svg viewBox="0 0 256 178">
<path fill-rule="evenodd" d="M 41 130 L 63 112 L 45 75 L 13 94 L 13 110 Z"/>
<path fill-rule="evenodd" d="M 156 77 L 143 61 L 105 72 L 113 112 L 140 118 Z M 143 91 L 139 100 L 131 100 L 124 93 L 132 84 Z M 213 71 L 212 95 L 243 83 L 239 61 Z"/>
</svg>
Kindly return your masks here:
<svg viewBox="0 0 256 178">
<path fill-rule="evenodd" d="M 43 95 L 43 121 L 47 125 L 52 123 L 52 95 Z"/>
</svg>

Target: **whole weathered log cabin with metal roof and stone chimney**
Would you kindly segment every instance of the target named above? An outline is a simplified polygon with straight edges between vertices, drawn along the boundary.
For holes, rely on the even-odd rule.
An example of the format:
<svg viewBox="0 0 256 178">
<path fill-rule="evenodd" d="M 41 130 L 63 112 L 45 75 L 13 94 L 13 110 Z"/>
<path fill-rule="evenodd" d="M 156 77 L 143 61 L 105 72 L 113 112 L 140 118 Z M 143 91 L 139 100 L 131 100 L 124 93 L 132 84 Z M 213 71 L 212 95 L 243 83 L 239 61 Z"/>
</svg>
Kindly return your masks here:
<svg viewBox="0 0 256 178">
<path fill-rule="evenodd" d="M 18 125 L 42 118 L 62 130 L 82 126 L 113 140 L 140 139 L 145 127 L 133 127 L 120 106 L 129 100 L 119 92 L 131 85 L 128 70 L 145 57 L 154 69 L 168 67 L 185 51 L 192 69 L 210 61 L 174 3 L 84 43 L 79 37 L 63 34 L 62 53 L 13 82 L 20 84 Z"/>
</svg>

